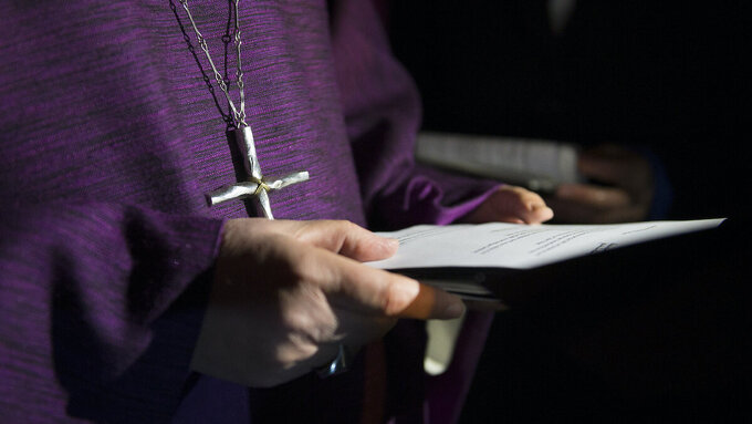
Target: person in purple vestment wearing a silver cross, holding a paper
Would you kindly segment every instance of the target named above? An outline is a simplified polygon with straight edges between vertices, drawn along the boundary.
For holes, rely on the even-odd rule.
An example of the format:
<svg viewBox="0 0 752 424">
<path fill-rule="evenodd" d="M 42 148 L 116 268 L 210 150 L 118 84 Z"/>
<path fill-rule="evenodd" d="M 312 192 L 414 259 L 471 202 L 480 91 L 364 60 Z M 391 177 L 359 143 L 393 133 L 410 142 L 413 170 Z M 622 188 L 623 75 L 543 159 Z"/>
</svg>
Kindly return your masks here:
<svg viewBox="0 0 752 424">
<path fill-rule="evenodd" d="M 364 227 L 540 223 L 551 209 L 414 163 L 419 100 L 367 0 L 240 2 L 261 167 L 311 178 L 272 192 L 279 220 L 208 208 L 236 170 L 181 3 L 0 4 L 2 421 L 453 420 L 426 415 L 425 334 L 397 319 L 463 306 L 358 263 L 397 248 Z M 232 70 L 233 2 L 189 3 Z M 340 344 L 367 347 L 348 372 L 312 373 Z M 467 374 L 477 354 L 464 356 Z"/>
</svg>

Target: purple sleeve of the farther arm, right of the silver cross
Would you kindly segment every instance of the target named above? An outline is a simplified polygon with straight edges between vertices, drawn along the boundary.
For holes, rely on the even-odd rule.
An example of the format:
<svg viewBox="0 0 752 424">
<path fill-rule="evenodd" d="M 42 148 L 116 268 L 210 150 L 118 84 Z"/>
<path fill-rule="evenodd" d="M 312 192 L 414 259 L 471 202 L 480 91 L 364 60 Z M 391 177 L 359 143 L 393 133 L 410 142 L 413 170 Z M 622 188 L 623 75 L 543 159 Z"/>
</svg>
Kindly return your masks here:
<svg viewBox="0 0 752 424">
<path fill-rule="evenodd" d="M 395 60 L 372 0 L 337 2 L 332 38 L 338 87 L 368 223 L 376 229 L 449 224 L 499 184 L 416 165 L 418 92 Z"/>
</svg>

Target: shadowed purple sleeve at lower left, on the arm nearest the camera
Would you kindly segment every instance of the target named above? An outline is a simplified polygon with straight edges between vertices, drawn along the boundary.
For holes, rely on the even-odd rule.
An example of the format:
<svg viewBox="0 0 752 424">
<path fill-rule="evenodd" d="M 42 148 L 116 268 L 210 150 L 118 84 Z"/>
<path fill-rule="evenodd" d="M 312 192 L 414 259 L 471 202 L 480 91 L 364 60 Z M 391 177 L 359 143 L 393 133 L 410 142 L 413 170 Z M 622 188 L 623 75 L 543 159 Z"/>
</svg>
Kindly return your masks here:
<svg viewBox="0 0 752 424">
<path fill-rule="evenodd" d="M 169 417 L 222 221 L 96 203 L 0 218 L 2 421 Z"/>
</svg>

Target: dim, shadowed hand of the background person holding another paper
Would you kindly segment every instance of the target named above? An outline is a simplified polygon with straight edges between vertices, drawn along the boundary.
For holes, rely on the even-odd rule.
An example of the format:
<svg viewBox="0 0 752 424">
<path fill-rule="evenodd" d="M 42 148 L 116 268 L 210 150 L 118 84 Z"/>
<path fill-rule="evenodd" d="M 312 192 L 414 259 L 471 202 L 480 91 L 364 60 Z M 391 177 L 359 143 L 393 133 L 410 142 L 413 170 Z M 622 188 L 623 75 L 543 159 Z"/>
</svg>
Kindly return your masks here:
<svg viewBox="0 0 752 424">
<path fill-rule="evenodd" d="M 579 173 L 602 183 L 562 184 L 546 203 L 556 221 L 607 224 L 643 220 L 652 201 L 648 161 L 625 147 L 604 144 L 579 155 Z"/>
</svg>

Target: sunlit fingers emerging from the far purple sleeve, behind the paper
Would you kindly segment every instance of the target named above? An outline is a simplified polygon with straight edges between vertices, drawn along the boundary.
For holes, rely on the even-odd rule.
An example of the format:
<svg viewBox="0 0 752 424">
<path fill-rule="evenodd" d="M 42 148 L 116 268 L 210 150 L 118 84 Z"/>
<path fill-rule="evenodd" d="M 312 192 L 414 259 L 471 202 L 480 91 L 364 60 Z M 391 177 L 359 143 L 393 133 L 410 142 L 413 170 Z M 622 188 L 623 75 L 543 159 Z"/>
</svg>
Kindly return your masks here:
<svg viewBox="0 0 752 424">
<path fill-rule="evenodd" d="M 491 221 L 540 224 L 553 216 L 553 210 L 536 193 L 516 186 L 502 186 L 461 221 L 470 224 Z"/>
</svg>

